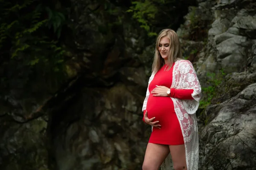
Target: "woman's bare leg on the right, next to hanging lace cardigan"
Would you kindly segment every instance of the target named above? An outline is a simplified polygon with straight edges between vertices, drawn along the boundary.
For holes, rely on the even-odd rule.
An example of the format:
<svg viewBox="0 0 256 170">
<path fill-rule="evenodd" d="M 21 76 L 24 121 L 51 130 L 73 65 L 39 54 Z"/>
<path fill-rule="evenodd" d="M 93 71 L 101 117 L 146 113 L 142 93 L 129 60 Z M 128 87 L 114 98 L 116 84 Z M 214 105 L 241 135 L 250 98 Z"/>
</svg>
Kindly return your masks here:
<svg viewBox="0 0 256 170">
<path fill-rule="evenodd" d="M 185 145 L 169 145 L 175 170 L 187 170 Z"/>
</svg>

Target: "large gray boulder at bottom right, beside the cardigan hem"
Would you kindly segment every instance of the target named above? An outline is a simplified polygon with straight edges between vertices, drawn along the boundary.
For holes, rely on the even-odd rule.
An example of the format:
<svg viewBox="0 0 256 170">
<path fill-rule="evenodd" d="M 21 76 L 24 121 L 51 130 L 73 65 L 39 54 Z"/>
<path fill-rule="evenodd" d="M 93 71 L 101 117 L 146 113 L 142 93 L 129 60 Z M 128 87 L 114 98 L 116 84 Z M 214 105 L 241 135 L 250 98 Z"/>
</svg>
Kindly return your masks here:
<svg viewBox="0 0 256 170">
<path fill-rule="evenodd" d="M 202 170 L 207 166 L 214 170 L 253 170 L 256 166 L 256 83 L 219 105 L 221 109 L 216 117 L 201 133 Z"/>
</svg>

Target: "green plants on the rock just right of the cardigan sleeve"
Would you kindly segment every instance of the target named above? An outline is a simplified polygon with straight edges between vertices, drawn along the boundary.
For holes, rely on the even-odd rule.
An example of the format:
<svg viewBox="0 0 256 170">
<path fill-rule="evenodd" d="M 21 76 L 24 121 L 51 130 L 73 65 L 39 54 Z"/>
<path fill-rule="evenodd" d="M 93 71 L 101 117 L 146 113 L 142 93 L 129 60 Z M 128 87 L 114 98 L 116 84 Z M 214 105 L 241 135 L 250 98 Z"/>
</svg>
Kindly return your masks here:
<svg viewBox="0 0 256 170">
<path fill-rule="evenodd" d="M 202 92 L 206 97 L 200 101 L 199 108 L 204 109 L 211 104 L 212 98 L 216 95 L 216 89 L 223 81 L 225 75 L 223 70 L 220 70 L 218 74 L 207 73 L 207 86 L 202 87 Z"/>
</svg>

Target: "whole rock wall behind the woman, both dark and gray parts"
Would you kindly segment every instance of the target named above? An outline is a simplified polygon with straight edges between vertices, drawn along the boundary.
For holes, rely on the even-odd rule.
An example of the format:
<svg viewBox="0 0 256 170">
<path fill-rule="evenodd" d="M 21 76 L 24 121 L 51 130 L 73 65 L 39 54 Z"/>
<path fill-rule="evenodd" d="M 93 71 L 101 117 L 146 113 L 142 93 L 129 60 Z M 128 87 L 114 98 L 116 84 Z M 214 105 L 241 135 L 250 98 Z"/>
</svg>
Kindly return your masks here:
<svg viewBox="0 0 256 170">
<path fill-rule="evenodd" d="M 204 88 L 216 86 L 211 105 L 197 113 L 199 170 L 254 170 L 256 3 L 197 1 L 177 33 L 204 100 Z M 123 15 L 130 1 L 109 2 L 71 0 L 70 81 L 24 90 L 15 79 L 0 96 L 1 170 L 141 169 L 151 132 L 141 107 L 154 46 Z M 221 74 L 220 83 L 209 84 L 209 74 Z"/>
</svg>

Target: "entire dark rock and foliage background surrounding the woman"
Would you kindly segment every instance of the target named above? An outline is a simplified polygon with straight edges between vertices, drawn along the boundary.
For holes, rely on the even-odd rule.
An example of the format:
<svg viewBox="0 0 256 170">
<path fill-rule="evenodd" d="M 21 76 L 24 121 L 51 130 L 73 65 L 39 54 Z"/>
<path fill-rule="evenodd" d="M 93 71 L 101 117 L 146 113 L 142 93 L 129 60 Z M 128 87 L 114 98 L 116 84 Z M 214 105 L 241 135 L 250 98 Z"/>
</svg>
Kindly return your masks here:
<svg viewBox="0 0 256 170">
<path fill-rule="evenodd" d="M 0 0 L 0 170 L 140 170 L 163 28 L 201 82 L 199 170 L 255 170 L 255 0 Z"/>
</svg>

